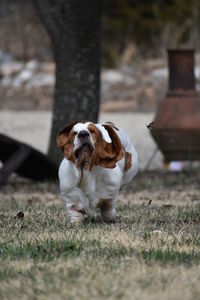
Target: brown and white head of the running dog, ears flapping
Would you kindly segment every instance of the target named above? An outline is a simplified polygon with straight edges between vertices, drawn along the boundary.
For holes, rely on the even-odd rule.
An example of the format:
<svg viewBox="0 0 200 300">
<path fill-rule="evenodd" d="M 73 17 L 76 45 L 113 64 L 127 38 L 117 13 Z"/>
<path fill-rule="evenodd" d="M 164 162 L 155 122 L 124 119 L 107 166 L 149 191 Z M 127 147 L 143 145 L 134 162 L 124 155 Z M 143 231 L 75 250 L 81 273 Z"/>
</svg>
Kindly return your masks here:
<svg viewBox="0 0 200 300">
<path fill-rule="evenodd" d="M 112 123 L 73 122 L 58 134 L 57 145 L 78 168 L 114 168 L 124 151 Z"/>
</svg>

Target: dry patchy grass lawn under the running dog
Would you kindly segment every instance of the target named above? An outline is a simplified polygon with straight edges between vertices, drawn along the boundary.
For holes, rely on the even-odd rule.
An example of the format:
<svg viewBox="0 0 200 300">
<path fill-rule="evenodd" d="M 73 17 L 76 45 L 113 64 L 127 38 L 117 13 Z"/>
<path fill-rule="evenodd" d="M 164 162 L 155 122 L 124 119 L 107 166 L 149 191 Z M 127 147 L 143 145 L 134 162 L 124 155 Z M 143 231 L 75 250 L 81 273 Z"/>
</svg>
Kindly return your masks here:
<svg viewBox="0 0 200 300">
<path fill-rule="evenodd" d="M 117 220 L 71 226 L 58 184 L 0 192 L 0 299 L 200 299 L 200 172 L 140 173 Z"/>
</svg>

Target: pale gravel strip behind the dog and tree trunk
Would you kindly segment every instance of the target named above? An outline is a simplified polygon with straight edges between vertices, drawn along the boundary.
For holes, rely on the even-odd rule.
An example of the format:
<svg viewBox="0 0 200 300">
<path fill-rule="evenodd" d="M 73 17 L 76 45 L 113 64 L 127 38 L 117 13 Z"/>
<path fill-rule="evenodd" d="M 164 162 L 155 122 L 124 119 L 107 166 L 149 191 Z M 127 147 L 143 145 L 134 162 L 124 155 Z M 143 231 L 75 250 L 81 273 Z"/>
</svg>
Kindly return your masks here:
<svg viewBox="0 0 200 300">
<path fill-rule="evenodd" d="M 130 136 L 140 158 L 140 168 L 144 169 L 155 144 L 146 124 L 153 120 L 152 113 L 101 113 L 100 121 L 112 121 Z M 51 126 L 49 111 L 1 111 L 0 132 L 47 151 Z M 151 169 L 162 167 L 162 155 L 156 154 Z"/>
</svg>

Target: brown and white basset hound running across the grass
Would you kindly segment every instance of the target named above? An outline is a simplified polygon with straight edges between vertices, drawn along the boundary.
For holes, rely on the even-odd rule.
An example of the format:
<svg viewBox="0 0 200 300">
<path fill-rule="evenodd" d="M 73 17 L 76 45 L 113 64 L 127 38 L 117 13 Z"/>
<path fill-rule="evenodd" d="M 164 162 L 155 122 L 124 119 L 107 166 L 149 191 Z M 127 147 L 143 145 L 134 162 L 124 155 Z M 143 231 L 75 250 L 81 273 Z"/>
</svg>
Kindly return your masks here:
<svg viewBox="0 0 200 300">
<path fill-rule="evenodd" d="M 59 167 L 60 191 L 72 223 L 101 210 L 105 222 L 114 220 L 114 204 L 122 186 L 138 171 L 138 156 L 128 135 L 112 123 L 71 123 L 57 145 L 64 153 Z"/>
</svg>

